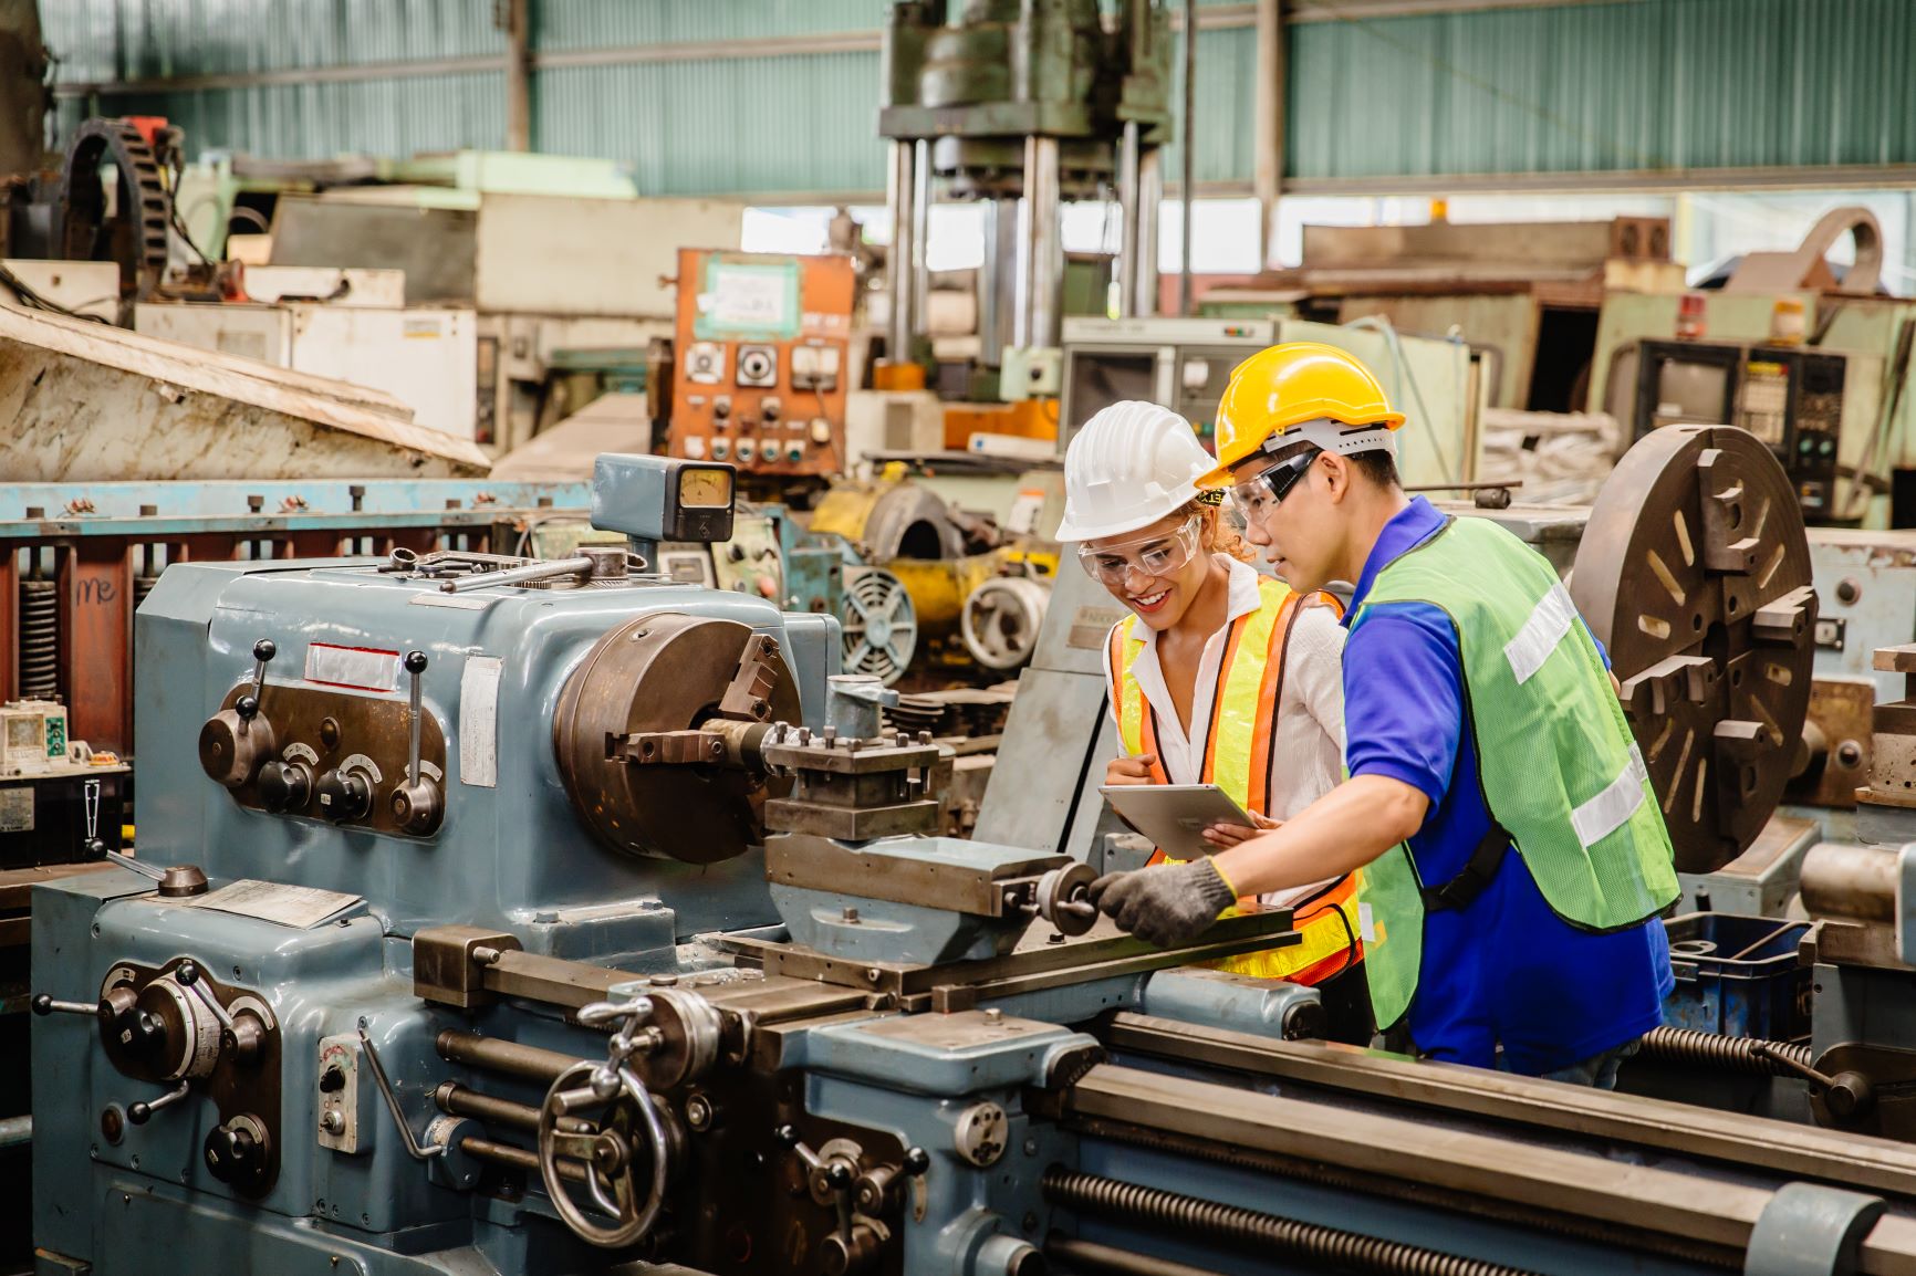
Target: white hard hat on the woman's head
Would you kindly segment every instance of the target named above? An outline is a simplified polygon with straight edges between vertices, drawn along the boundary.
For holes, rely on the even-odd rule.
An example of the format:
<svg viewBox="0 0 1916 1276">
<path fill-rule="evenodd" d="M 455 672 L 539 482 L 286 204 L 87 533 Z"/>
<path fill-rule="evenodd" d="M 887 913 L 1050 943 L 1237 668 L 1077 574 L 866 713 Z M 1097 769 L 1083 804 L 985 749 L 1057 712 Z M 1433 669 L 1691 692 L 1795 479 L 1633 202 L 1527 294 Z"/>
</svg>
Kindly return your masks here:
<svg viewBox="0 0 1916 1276">
<path fill-rule="evenodd" d="M 1150 527 L 1198 496 L 1217 460 L 1190 422 L 1155 402 L 1113 402 L 1065 452 L 1065 519 L 1058 540 L 1098 540 Z"/>
</svg>

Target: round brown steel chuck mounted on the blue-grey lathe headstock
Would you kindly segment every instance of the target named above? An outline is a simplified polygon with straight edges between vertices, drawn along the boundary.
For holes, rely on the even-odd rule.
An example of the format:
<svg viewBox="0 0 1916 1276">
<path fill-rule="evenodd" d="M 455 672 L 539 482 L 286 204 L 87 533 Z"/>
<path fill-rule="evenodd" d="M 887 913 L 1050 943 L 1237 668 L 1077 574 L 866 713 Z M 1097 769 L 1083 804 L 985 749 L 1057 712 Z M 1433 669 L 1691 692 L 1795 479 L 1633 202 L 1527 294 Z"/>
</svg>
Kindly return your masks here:
<svg viewBox="0 0 1916 1276">
<path fill-rule="evenodd" d="M 789 780 L 730 763 L 648 764 L 615 751 L 638 732 L 688 732 L 718 713 L 751 628 L 738 621 L 644 615 L 594 644 L 559 692 L 552 745 L 579 818 L 628 854 L 717 864 L 763 839 L 766 795 Z M 768 720 L 797 722 L 799 692 L 774 653 Z"/>
</svg>

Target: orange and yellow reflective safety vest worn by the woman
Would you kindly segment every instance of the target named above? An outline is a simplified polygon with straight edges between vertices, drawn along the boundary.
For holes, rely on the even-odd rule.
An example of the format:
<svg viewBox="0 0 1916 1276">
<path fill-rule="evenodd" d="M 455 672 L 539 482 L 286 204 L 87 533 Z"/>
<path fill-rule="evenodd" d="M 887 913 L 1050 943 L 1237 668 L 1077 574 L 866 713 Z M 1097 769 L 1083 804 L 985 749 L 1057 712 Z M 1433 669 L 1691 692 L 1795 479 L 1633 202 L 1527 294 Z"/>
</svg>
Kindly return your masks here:
<svg viewBox="0 0 1916 1276">
<path fill-rule="evenodd" d="M 1318 600 L 1341 611 L 1330 594 L 1299 598 L 1282 581 L 1261 577 L 1259 605 L 1238 617 L 1224 644 L 1219 665 L 1217 694 L 1211 699 L 1211 730 L 1203 749 L 1203 784 L 1215 784 L 1245 810 L 1270 814 L 1270 732 L 1278 718 L 1278 697 L 1284 690 L 1284 653 L 1291 642 L 1291 627 L 1305 607 Z M 1132 674 L 1144 638 L 1134 636 L 1138 617 L 1129 615 L 1111 627 L 1111 701 L 1117 705 L 1117 734 L 1132 757 L 1157 753 L 1157 713 L 1144 699 L 1144 688 Z M 1165 763 L 1152 764 L 1152 784 L 1171 784 Z M 1180 864 L 1161 849 L 1152 864 Z M 1316 895 L 1291 904 L 1293 922 L 1303 943 L 1266 952 L 1245 952 L 1211 962 L 1217 969 L 1257 979 L 1289 979 L 1314 985 L 1364 958 L 1358 939 L 1360 874 L 1347 874 Z M 1238 900 L 1253 906 L 1255 899 Z M 1236 908 L 1224 916 L 1236 916 Z"/>
</svg>

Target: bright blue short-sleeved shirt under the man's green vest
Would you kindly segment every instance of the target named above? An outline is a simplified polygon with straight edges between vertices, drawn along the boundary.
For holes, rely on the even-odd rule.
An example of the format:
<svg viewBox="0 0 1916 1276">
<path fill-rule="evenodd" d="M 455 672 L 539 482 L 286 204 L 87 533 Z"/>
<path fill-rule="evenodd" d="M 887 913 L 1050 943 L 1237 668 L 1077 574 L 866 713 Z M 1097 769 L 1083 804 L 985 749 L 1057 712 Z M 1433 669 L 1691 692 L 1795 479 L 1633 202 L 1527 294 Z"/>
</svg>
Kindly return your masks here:
<svg viewBox="0 0 1916 1276">
<path fill-rule="evenodd" d="M 1378 571 L 1443 525 L 1416 496 L 1383 527 L 1345 625 Z M 1389 776 L 1431 801 L 1410 839 L 1418 876 L 1437 885 L 1460 874 L 1491 814 L 1464 728 L 1464 659 L 1450 617 L 1429 604 L 1374 607 L 1343 649 L 1343 715 L 1353 776 Z M 1424 920 L 1410 1037 L 1452 1063 L 1494 1067 L 1502 1046 L 1510 1071 L 1550 1073 L 1654 1029 L 1673 987 L 1659 920 L 1609 935 L 1577 929 L 1550 912 L 1523 856 L 1510 853 L 1468 908 Z"/>
</svg>

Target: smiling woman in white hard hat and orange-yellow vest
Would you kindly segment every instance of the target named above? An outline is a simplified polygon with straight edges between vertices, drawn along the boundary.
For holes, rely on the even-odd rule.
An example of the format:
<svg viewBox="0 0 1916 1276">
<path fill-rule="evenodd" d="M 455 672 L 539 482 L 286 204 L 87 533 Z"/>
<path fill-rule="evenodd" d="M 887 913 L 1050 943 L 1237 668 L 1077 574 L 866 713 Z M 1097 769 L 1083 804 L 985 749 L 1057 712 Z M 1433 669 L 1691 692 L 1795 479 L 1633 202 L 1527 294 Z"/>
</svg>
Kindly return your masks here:
<svg viewBox="0 0 1916 1276">
<path fill-rule="evenodd" d="M 1249 550 L 1198 489 L 1215 464 L 1169 408 L 1111 404 L 1065 454 L 1058 538 L 1130 611 L 1106 644 L 1123 743 L 1106 784 L 1217 784 L 1276 828 L 1343 774 L 1343 628 L 1328 596 L 1242 561 Z M 1265 902 L 1293 908 L 1303 943 L 1217 966 L 1316 987 L 1328 1035 L 1368 1044 L 1355 874 Z"/>
</svg>

